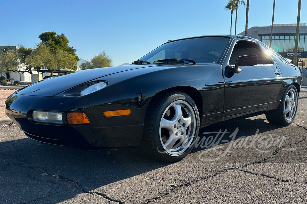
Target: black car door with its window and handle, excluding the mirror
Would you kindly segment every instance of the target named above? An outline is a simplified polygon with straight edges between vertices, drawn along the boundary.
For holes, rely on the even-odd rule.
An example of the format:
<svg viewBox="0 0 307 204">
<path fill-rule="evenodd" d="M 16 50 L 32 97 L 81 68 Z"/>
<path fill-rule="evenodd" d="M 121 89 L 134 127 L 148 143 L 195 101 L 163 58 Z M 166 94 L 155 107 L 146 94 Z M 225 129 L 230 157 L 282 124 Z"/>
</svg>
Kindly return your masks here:
<svg viewBox="0 0 307 204">
<path fill-rule="evenodd" d="M 278 66 L 252 40 L 235 40 L 223 63 L 225 99 L 223 117 L 259 111 L 270 107 L 281 88 L 282 77 Z M 257 54 L 258 64 L 244 66 L 241 73 L 231 72 L 237 57 Z"/>
</svg>

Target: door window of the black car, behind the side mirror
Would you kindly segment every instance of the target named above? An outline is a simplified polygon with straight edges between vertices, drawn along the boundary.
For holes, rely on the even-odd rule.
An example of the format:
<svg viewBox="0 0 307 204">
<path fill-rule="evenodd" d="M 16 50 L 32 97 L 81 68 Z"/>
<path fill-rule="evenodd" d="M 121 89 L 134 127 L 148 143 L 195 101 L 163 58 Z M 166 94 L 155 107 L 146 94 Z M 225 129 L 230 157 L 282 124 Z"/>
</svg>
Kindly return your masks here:
<svg viewBox="0 0 307 204">
<path fill-rule="evenodd" d="M 239 56 L 256 54 L 258 55 L 258 65 L 272 64 L 270 57 L 254 42 L 238 41 L 232 50 L 229 64 L 234 65 Z"/>
</svg>

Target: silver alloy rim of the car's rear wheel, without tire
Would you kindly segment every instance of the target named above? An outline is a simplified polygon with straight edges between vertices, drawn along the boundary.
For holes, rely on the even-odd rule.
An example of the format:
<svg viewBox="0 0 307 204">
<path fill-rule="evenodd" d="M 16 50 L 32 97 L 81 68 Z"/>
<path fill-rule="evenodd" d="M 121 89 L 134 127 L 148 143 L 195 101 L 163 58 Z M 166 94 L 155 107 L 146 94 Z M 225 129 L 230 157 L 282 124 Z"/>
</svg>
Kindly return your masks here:
<svg viewBox="0 0 307 204">
<path fill-rule="evenodd" d="M 291 88 L 285 98 L 285 116 L 287 121 L 291 121 L 295 116 L 297 108 L 297 96 L 293 88 Z"/>
</svg>

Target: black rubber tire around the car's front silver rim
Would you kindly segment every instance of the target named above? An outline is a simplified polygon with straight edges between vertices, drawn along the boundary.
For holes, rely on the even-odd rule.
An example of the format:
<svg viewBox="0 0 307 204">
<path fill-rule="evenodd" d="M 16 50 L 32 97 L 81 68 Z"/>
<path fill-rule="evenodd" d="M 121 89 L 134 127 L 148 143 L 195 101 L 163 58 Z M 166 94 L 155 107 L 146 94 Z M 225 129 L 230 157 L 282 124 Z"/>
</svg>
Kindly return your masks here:
<svg viewBox="0 0 307 204">
<path fill-rule="evenodd" d="M 195 114 L 194 115 L 195 117 L 193 117 L 195 118 L 195 123 L 193 124 L 193 126 L 191 126 L 192 127 L 191 130 L 195 132 L 195 134 L 192 134 L 193 138 L 191 137 L 191 139 L 189 140 L 189 143 L 191 144 L 185 147 L 187 149 L 184 152 L 182 152 L 180 155 L 171 155 L 167 153 L 167 151 L 165 151 L 165 149 L 163 148 L 162 145 L 163 142 L 160 136 L 160 122 L 162 121 L 162 115 L 163 117 L 165 117 L 166 114 L 165 111 L 167 111 L 166 108 L 168 108 L 171 104 L 173 104 L 176 101 L 187 102 L 190 105 L 190 107 L 192 107 L 192 111 Z M 178 127 L 179 126 L 180 125 L 178 124 Z M 165 162 L 179 161 L 185 158 L 195 146 L 195 142 L 199 132 L 199 126 L 200 126 L 200 117 L 198 109 L 196 107 L 195 102 L 192 100 L 192 98 L 189 95 L 181 91 L 171 91 L 169 93 L 162 93 L 159 96 L 157 96 L 153 102 L 151 102 L 151 105 L 148 108 L 145 118 L 144 134 L 142 138 L 141 147 L 148 155 L 150 155 L 154 159 Z M 188 129 L 188 126 L 186 126 L 186 128 Z M 175 128 L 174 132 L 176 131 L 177 129 Z M 184 130 L 183 132 L 187 131 L 188 130 Z M 176 134 L 178 135 L 177 132 Z"/>
</svg>

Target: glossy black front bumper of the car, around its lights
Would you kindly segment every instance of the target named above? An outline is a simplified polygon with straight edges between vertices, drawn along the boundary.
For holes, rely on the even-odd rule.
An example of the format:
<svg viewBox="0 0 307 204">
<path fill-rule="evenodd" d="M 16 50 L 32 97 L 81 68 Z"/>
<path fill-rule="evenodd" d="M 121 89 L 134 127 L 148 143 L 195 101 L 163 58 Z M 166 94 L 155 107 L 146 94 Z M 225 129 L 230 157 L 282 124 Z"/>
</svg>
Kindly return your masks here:
<svg viewBox="0 0 307 204">
<path fill-rule="evenodd" d="M 82 111 L 90 124 L 44 124 L 31 120 L 33 110 Z M 6 100 L 5 111 L 25 134 L 39 142 L 79 149 L 138 146 L 143 125 L 103 126 L 95 110 L 80 98 L 29 96 L 14 93 Z"/>
</svg>

